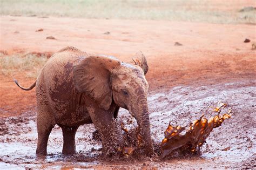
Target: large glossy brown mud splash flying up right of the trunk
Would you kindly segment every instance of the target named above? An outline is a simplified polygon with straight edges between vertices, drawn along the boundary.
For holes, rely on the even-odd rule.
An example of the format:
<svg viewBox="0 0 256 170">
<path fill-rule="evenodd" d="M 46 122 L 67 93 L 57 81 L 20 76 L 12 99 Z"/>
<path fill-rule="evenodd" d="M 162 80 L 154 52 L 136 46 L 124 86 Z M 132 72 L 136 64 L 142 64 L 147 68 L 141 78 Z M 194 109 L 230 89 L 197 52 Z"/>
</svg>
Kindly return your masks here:
<svg viewBox="0 0 256 170">
<path fill-rule="evenodd" d="M 226 104 L 220 104 L 220 106 L 214 108 L 214 111 L 220 114 L 221 107 L 226 107 Z M 215 115 L 210 119 L 206 119 L 203 114 L 200 119 L 194 120 L 193 123 L 190 124 L 189 130 L 187 130 L 185 134 L 181 134 L 186 129 L 185 127 L 174 127 L 169 123 L 169 126 L 164 132 L 165 138 L 160 144 L 162 151 L 161 157 L 172 156 L 173 151 L 180 154 L 199 153 L 213 128 L 219 127 L 225 119 L 231 118 L 230 113 L 231 110 L 223 115 Z"/>
</svg>

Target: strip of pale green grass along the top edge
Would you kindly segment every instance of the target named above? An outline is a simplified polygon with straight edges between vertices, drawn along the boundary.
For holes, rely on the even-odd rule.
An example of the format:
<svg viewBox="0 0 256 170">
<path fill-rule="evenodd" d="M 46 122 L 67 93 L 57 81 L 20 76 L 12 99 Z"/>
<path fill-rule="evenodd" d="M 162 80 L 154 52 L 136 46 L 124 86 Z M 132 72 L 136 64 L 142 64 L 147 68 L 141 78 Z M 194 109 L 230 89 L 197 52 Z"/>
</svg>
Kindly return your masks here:
<svg viewBox="0 0 256 170">
<path fill-rule="evenodd" d="M 219 10 L 232 1 L 216 6 L 203 0 L 0 0 L 0 15 L 56 16 L 109 19 L 152 19 L 210 23 L 256 23 L 255 10 Z M 241 9 L 244 6 L 241 6 Z"/>
</svg>

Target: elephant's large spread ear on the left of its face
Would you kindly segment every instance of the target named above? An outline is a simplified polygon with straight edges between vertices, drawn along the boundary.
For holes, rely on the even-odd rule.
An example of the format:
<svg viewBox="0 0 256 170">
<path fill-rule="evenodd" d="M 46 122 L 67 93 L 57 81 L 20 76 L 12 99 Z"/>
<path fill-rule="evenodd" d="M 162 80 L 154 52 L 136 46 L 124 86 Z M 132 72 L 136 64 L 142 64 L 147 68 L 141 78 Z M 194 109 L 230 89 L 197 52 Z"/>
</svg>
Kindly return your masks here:
<svg viewBox="0 0 256 170">
<path fill-rule="evenodd" d="M 81 93 L 94 99 L 101 108 L 109 110 L 112 103 L 110 77 L 120 66 L 117 58 L 109 56 L 89 56 L 73 68 L 73 83 Z"/>
</svg>

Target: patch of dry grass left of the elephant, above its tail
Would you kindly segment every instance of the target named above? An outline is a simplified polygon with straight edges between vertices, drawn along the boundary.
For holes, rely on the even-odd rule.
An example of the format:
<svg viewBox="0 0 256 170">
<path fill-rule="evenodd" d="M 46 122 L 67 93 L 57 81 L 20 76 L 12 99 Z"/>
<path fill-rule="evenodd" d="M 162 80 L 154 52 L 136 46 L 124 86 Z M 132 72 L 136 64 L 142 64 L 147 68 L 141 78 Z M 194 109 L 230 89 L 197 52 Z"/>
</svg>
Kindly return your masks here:
<svg viewBox="0 0 256 170">
<path fill-rule="evenodd" d="M 26 77 L 36 78 L 46 63 L 47 57 L 33 54 L 3 55 L 0 53 L 0 73 L 5 76 L 14 76 L 18 72 L 24 72 Z"/>
</svg>

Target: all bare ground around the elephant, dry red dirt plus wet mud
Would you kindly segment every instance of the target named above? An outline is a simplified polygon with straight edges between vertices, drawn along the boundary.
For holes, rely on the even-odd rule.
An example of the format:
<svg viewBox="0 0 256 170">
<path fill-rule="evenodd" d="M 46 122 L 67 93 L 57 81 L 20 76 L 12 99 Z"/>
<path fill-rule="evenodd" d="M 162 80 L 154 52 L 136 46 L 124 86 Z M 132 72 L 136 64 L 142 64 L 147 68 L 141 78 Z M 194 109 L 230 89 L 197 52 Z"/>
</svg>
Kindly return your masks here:
<svg viewBox="0 0 256 170">
<path fill-rule="evenodd" d="M 43 29 L 43 31 L 38 31 Z M 254 24 L 1 16 L 0 51 L 52 53 L 76 46 L 124 62 L 142 51 L 147 57 L 152 138 L 161 141 L 169 121 L 188 125 L 208 106 L 223 101 L 232 118 L 212 132 L 201 155 L 171 160 L 105 162 L 93 125 L 79 128 L 78 154 L 62 157 L 62 133 L 55 127 L 46 159 L 35 157 L 35 90 L 25 92 L 0 74 L 1 168 L 246 168 L 255 167 L 256 41 Z M 56 39 L 46 39 L 53 36 Z M 250 43 L 244 43 L 248 38 Z M 178 42 L 178 43 L 177 43 Z M 181 45 L 177 45 L 181 44 Z M 23 86 L 34 79 L 15 72 Z M 120 119 L 130 118 L 122 110 Z M 93 149 L 92 149 L 93 148 Z"/>
</svg>

